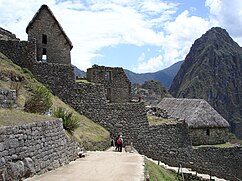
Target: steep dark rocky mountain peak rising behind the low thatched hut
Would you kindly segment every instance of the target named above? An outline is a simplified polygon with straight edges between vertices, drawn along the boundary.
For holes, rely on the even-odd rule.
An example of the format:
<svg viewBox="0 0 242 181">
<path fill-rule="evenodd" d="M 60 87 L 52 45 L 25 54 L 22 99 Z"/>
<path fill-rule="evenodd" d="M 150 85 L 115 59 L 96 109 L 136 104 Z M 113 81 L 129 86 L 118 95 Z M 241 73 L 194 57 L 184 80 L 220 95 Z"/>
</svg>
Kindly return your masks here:
<svg viewBox="0 0 242 181">
<path fill-rule="evenodd" d="M 242 49 L 216 27 L 194 42 L 169 91 L 174 97 L 205 99 L 233 128 L 242 122 L 241 90 Z"/>
</svg>

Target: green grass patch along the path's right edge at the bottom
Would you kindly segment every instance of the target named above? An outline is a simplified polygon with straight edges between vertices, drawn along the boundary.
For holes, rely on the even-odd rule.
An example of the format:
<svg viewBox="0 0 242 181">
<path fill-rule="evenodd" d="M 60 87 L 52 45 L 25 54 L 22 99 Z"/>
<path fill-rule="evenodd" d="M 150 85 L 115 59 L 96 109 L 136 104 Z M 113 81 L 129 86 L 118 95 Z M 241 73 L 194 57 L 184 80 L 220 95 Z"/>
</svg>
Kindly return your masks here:
<svg viewBox="0 0 242 181">
<path fill-rule="evenodd" d="M 174 171 L 167 170 L 145 159 L 145 174 L 147 173 L 150 181 L 178 181 L 177 174 Z"/>
</svg>

